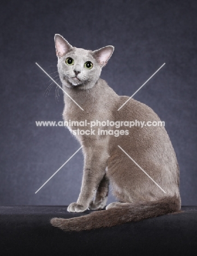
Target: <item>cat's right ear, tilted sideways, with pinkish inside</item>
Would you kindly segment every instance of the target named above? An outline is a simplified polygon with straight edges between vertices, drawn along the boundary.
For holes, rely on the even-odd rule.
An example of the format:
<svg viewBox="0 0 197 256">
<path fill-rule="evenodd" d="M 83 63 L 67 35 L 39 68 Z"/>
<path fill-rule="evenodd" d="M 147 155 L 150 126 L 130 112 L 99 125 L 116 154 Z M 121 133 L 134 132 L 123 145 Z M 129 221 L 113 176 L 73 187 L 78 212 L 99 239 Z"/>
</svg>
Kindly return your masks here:
<svg viewBox="0 0 197 256">
<path fill-rule="evenodd" d="M 93 56 L 98 61 L 100 67 L 104 67 L 106 63 L 108 63 L 113 52 L 114 52 L 114 46 L 108 45 L 93 51 Z"/>
</svg>

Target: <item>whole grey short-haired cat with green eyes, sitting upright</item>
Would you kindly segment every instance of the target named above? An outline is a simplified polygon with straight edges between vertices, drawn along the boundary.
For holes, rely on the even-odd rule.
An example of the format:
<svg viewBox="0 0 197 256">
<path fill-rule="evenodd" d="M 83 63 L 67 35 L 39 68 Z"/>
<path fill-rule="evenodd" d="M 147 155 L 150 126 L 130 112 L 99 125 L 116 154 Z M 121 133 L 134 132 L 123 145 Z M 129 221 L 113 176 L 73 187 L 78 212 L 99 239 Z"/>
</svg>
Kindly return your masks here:
<svg viewBox="0 0 197 256">
<path fill-rule="evenodd" d="M 118 110 L 129 97 L 118 96 L 100 78 L 114 46 L 95 51 L 75 48 L 59 34 L 55 46 L 62 88 L 71 97 L 64 94 L 64 121 L 160 121 L 150 107 L 133 98 Z M 89 129 L 79 124 L 68 128 L 72 133 Z M 164 126 L 121 127 L 119 136 L 108 133 L 115 132 L 115 126 L 103 127 L 98 122 L 93 128 L 95 134 L 74 135 L 83 146 L 84 167 L 79 198 L 67 210 L 103 211 L 71 219 L 52 218 L 53 226 L 64 231 L 90 230 L 180 212 L 179 167 Z M 99 135 L 99 129 L 106 133 Z M 106 206 L 109 183 L 118 202 Z"/>
</svg>

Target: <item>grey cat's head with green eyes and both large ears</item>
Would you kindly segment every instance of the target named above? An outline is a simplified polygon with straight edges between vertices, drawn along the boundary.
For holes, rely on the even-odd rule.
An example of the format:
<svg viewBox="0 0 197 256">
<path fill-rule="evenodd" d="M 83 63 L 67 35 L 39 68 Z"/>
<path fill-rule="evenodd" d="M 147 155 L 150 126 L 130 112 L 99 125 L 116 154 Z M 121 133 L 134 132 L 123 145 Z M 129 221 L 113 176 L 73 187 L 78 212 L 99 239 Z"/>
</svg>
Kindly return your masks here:
<svg viewBox="0 0 197 256">
<path fill-rule="evenodd" d="M 114 51 L 111 45 L 95 51 L 76 48 L 60 34 L 55 35 L 55 46 L 62 85 L 82 90 L 94 86 Z"/>
</svg>

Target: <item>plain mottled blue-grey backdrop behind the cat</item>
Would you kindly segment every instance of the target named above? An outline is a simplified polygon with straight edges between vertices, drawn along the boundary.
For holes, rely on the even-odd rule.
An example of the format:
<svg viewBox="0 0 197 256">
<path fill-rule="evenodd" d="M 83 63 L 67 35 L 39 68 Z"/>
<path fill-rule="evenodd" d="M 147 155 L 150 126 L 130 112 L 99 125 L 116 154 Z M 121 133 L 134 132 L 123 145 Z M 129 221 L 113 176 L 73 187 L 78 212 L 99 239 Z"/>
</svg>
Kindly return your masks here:
<svg viewBox="0 0 197 256">
<path fill-rule="evenodd" d="M 134 98 L 165 121 L 182 204 L 196 205 L 196 13 L 196 1 L 2 2 L 1 205 L 68 205 L 80 191 L 81 152 L 35 194 L 80 147 L 63 127 L 35 126 L 62 120 L 62 91 L 57 100 L 53 85 L 46 97 L 50 79 L 35 65 L 57 71 L 55 33 L 79 48 L 114 45 L 102 78 L 119 95 L 132 95 L 166 63 Z"/>
</svg>

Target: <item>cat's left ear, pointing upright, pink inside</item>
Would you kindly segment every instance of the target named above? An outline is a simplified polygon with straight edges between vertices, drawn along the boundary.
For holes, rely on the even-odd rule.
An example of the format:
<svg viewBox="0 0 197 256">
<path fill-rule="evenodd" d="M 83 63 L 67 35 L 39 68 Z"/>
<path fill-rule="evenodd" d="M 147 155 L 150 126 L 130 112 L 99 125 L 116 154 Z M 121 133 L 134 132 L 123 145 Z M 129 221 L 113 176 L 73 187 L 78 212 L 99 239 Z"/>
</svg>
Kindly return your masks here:
<svg viewBox="0 0 197 256">
<path fill-rule="evenodd" d="M 56 46 L 56 55 L 58 58 L 61 58 L 67 54 L 73 47 L 65 40 L 60 34 L 55 34 L 55 46 Z"/>
</svg>

